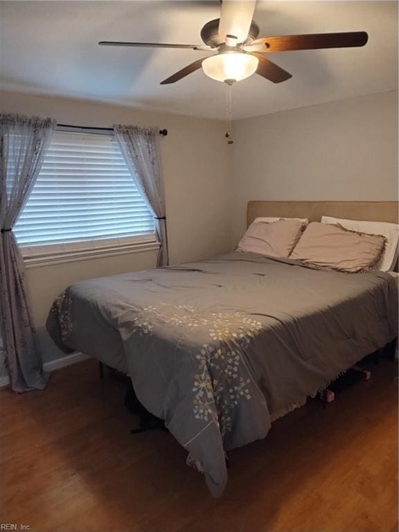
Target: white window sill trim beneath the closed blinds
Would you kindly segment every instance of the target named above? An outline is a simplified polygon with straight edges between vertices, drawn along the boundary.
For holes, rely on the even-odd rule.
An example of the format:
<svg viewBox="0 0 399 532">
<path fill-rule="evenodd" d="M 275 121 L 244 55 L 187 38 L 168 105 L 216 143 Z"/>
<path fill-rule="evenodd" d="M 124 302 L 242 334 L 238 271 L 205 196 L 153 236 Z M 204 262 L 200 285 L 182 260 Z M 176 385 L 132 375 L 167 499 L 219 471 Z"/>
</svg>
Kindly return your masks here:
<svg viewBox="0 0 399 532">
<path fill-rule="evenodd" d="M 98 243 L 98 242 L 97 242 Z M 121 244 L 96 245 L 96 247 L 65 247 L 61 250 L 35 251 L 35 247 L 20 247 L 26 268 L 53 266 L 63 263 L 76 263 L 81 260 L 93 260 L 96 258 L 113 257 L 132 253 L 145 253 L 146 251 L 158 251 L 160 244 L 157 240 L 141 240 L 139 242 L 127 242 Z"/>
</svg>

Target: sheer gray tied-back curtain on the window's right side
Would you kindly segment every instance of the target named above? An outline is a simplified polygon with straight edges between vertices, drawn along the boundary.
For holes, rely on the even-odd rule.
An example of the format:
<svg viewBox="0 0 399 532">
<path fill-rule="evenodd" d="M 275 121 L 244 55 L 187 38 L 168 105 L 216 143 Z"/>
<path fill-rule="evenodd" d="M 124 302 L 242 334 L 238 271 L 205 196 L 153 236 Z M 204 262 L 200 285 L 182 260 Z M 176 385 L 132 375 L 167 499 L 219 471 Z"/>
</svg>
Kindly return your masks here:
<svg viewBox="0 0 399 532">
<path fill-rule="evenodd" d="M 159 131 L 133 125 L 114 125 L 114 134 L 127 166 L 154 215 L 157 238 L 161 243 L 157 266 L 167 266 L 168 233 L 165 193 L 158 162 Z"/>
</svg>

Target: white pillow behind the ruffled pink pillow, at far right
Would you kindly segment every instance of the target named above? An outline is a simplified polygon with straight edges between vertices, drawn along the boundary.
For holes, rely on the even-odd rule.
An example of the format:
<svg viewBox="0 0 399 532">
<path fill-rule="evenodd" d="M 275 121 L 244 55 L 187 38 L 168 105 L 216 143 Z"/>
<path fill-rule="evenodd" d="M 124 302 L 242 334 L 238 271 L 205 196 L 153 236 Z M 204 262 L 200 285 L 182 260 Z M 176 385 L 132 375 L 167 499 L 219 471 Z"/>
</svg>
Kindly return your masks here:
<svg viewBox="0 0 399 532">
<path fill-rule="evenodd" d="M 373 235 L 383 235 L 387 238 L 387 246 L 385 247 L 378 269 L 382 272 L 389 272 L 396 266 L 399 242 L 398 224 L 389 224 L 387 222 L 360 222 L 359 220 L 343 220 L 341 218 L 331 218 L 330 216 L 323 216 L 321 218 L 321 223 L 340 224 L 342 227 L 352 229 L 353 231 L 361 231 L 362 233 L 370 233 Z"/>
</svg>

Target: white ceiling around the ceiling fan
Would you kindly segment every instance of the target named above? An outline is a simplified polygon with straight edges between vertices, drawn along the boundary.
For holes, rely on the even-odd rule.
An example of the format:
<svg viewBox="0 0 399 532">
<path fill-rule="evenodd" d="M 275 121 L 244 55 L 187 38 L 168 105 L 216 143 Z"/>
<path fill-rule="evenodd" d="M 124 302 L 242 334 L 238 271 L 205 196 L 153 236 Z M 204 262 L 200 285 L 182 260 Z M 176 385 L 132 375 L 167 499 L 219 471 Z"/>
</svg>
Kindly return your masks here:
<svg viewBox="0 0 399 532">
<path fill-rule="evenodd" d="M 366 30 L 364 48 L 269 54 L 293 78 L 233 86 L 233 118 L 398 88 L 396 1 L 258 1 L 260 36 Z M 225 86 L 202 70 L 159 85 L 204 52 L 105 48 L 99 40 L 197 44 L 217 0 L 1 1 L 0 88 L 224 118 Z M 206 53 L 205 53 L 206 55 Z"/>
</svg>

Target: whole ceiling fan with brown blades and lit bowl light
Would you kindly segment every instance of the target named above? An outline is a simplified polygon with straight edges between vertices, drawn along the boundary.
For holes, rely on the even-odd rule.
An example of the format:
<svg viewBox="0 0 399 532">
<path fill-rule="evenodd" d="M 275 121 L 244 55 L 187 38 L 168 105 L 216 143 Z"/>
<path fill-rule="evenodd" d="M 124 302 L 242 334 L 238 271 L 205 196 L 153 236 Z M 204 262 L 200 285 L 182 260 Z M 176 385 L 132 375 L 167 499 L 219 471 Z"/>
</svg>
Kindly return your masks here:
<svg viewBox="0 0 399 532">
<path fill-rule="evenodd" d="M 264 57 L 264 53 L 364 46 L 369 38 L 365 31 L 258 38 L 259 26 L 252 20 L 255 6 L 256 0 L 223 0 L 220 19 L 207 22 L 201 30 L 204 44 L 116 41 L 100 41 L 98 44 L 101 46 L 191 48 L 195 51 L 206 51 L 212 55 L 188 64 L 184 69 L 161 81 L 161 85 L 175 83 L 201 67 L 209 78 L 231 85 L 254 73 L 274 83 L 281 83 L 292 78 L 289 72 Z"/>
</svg>

